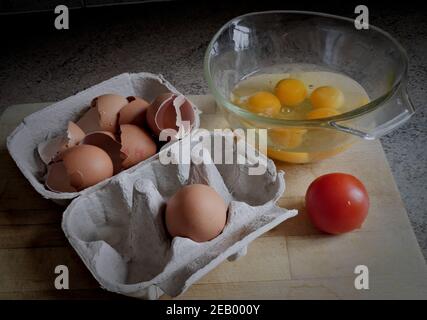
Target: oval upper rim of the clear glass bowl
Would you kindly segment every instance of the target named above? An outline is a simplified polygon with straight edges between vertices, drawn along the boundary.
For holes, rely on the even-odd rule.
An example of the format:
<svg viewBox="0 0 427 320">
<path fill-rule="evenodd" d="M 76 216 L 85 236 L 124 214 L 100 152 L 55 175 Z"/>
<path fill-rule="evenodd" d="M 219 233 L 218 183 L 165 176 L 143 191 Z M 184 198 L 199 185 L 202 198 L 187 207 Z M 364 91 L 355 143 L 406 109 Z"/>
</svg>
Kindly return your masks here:
<svg viewBox="0 0 427 320">
<path fill-rule="evenodd" d="M 229 21 L 227 21 L 212 37 L 211 41 L 209 42 L 209 45 L 206 49 L 205 56 L 204 56 L 204 62 L 203 62 L 203 69 L 204 69 L 204 76 L 208 83 L 208 87 L 211 90 L 215 100 L 220 101 L 221 105 L 223 105 L 225 108 L 227 108 L 229 111 L 247 118 L 252 121 L 256 122 L 263 122 L 266 124 L 272 124 L 272 125 L 285 125 L 285 126 L 291 126 L 291 127 L 333 127 L 334 123 L 351 120 L 354 118 L 358 118 L 362 115 L 365 115 L 367 113 L 370 113 L 376 109 L 378 109 L 383 103 L 390 100 L 397 91 L 399 91 L 403 86 L 405 86 L 405 82 L 407 79 L 407 73 L 408 73 L 408 56 L 406 53 L 406 50 L 403 48 L 403 46 L 388 32 L 382 30 L 379 27 L 376 27 L 372 24 L 369 24 L 369 29 L 373 30 L 375 32 L 378 32 L 382 36 L 386 37 L 388 40 L 390 40 L 397 48 L 398 52 L 400 53 L 402 60 L 403 60 L 403 71 L 396 76 L 396 79 L 393 82 L 392 88 L 383 94 L 382 96 L 379 96 L 378 98 L 370 101 L 369 103 L 362 105 L 358 108 L 355 108 L 353 110 L 344 112 L 342 114 L 332 116 L 332 117 L 325 117 L 325 118 L 319 118 L 319 119 L 301 119 L 301 120 L 291 120 L 291 119 L 277 119 L 277 118 L 271 118 L 268 116 L 262 116 L 259 114 L 252 113 L 246 109 L 243 109 L 233 103 L 230 102 L 229 99 L 225 98 L 216 88 L 215 84 L 213 83 L 212 76 L 211 76 L 211 68 L 209 65 L 210 62 L 210 52 L 213 49 L 214 43 L 217 41 L 219 36 L 226 30 L 233 22 L 240 20 L 245 17 L 249 16 L 255 16 L 255 15 L 268 15 L 268 14 L 299 14 L 299 15 L 312 15 L 316 17 L 324 17 L 324 18 L 331 18 L 335 20 L 341 20 L 345 22 L 349 22 L 354 24 L 354 19 L 350 19 L 343 16 L 338 16 L 334 14 L 329 13 L 323 13 L 323 12 L 316 12 L 316 11 L 304 11 L 304 10 L 268 10 L 268 11 L 256 11 L 256 12 L 250 12 L 246 13 L 240 16 L 236 16 Z M 334 128 L 334 127 L 333 127 Z"/>
</svg>

